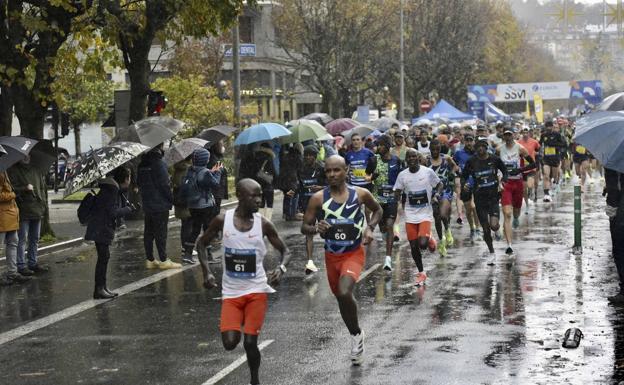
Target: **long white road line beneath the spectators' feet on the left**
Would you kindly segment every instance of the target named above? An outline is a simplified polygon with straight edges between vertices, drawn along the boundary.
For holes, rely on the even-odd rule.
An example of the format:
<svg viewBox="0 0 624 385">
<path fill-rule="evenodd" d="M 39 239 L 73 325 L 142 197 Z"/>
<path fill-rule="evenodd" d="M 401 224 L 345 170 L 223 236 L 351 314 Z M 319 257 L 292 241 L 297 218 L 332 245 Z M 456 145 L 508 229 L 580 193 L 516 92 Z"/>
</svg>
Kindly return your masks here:
<svg viewBox="0 0 624 385">
<path fill-rule="evenodd" d="M 185 270 L 188 269 L 192 269 L 194 267 L 197 267 L 198 265 L 187 265 L 187 266 L 183 266 L 180 269 L 172 269 L 172 270 L 165 270 L 162 271 L 160 273 L 156 273 L 154 275 L 151 275 L 149 277 L 143 278 L 141 280 L 138 280 L 136 282 L 127 284 L 125 286 L 120 287 L 119 289 L 116 289 L 114 291 L 116 291 L 117 293 L 119 293 L 119 296 L 131 293 L 135 290 L 141 289 L 145 286 L 151 285 L 152 283 L 158 282 L 160 280 L 163 280 L 165 278 L 169 278 L 172 275 L 176 275 L 179 274 Z M 105 302 L 108 301 L 112 301 L 112 300 L 87 300 L 84 302 L 81 302 L 77 305 L 74 306 L 70 306 L 67 309 L 63 309 L 57 313 L 53 313 L 50 314 L 48 316 L 45 316 L 43 318 L 40 318 L 38 320 L 29 322 L 27 324 L 24 324 L 22 326 L 19 326 L 15 329 L 6 331 L 4 333 L 0 334 L 0 346 L 6 344 L 7 342 L 11 342 L 14 339 L 23 337 L 27 334 L 30 334 L 34 331 L 37 331 L 39 329 L 42 329 L 46 326 L 52 325 L 54 323 L 57 323 L 59 321 L 62 321 L 64 319 L 67 319 L 69 317 L 72 317 L 78 313 L 81 313 L 85 310 L 89 310 L 92 309 L 94 307 L 96 307 L 97 305 L 101 305 Z"/>
</svg>

